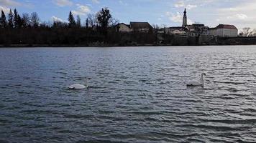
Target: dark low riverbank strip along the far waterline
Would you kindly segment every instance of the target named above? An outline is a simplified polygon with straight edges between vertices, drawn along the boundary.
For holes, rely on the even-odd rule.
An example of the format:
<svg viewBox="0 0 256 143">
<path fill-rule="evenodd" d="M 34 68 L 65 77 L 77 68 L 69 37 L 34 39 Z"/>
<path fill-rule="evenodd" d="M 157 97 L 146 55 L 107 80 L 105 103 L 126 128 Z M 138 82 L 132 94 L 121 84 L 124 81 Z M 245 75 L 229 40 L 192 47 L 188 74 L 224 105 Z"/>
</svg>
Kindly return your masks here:
<svg viewBox="0 0 256 143">
<path fill-rule="evenodd" d="M 159 37 L 159 36 L 158 36 Z M 161 38 L 160 38 L 161 39 Z M 137 43 L 136 41 L 109 44 L 93 42 L 88 44 L 0 44 L 4 47 L 108 47 L 108 46 L 224 46 L 224 45 L 256 45 L 256 37 L 218 37 L 218 36 L 165 36 L 157 43 Z"/>
</svg>

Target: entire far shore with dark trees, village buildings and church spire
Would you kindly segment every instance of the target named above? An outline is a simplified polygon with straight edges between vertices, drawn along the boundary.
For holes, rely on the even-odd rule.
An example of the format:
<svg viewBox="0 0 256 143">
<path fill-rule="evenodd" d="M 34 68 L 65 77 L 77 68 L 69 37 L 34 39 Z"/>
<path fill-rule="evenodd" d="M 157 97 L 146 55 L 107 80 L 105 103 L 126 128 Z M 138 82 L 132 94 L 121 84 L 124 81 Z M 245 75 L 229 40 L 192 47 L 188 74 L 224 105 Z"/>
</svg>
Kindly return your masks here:
<svg viewBox="0 0 256 143">
<path fill-rule="evenodd" d="M 68 22 L 40 21 L 36 12 L 19 14 L 10 9 L 7 16 L 1 11 L 0 47 L 11 46 L 200 46 L 256 44 L 256 29 L 242 34 L 234 25 L 188 24 L 184 10 L 183 24 L 162 27 L 148 22 L 119 23 L 108 8 L 95 15 L 88 14 L 85 24 L 80 16 L 68 14 Z M 244 29 L 243 29 L 244 30 Z"/>
</svg>

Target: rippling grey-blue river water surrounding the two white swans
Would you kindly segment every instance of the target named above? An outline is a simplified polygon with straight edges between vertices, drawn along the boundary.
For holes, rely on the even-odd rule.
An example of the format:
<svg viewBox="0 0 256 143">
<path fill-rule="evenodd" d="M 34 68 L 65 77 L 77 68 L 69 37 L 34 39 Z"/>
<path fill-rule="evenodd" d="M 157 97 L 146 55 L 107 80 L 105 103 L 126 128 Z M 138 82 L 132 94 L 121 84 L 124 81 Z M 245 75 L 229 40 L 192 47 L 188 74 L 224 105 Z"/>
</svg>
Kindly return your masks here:
<svg viewBox="0 0 256 143">
<path fill-rule="evenodd" d="M 254 142 L 256 46 L 0 49 L 0 142 Z M 206 73 L 205 87 L 186 82 Z M 89 89 L 67 90 L 76 83 Z"/>
</svg>

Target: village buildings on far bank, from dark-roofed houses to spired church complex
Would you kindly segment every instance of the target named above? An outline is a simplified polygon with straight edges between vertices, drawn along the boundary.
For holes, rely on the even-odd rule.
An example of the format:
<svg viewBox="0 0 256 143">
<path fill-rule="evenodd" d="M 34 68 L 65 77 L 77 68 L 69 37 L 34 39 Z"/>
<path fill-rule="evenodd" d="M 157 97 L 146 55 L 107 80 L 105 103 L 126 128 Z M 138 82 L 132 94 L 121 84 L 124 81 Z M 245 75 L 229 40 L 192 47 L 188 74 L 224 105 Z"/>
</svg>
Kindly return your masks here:
<svg viewBox="0 0 256 143">
<path fill-rule="evenodd" d="M 165 27 L 157 29 L 159 34 L 170 34 L 180 36 L 220 36 L 220 37 L 236 37 L 238 29 L 234 25 L 219 24 L 218 26 L 211 28 L 204 24 L 192 24 L 188 25 L 186 9 L 183 15 L 182 26 Z M 130 24 L 117 24 L 116 31 L 119 32 L 141 32 L 148 33 L 152 31 L 153 27 L 148 22 L 130 22 Z"/>
</svg>

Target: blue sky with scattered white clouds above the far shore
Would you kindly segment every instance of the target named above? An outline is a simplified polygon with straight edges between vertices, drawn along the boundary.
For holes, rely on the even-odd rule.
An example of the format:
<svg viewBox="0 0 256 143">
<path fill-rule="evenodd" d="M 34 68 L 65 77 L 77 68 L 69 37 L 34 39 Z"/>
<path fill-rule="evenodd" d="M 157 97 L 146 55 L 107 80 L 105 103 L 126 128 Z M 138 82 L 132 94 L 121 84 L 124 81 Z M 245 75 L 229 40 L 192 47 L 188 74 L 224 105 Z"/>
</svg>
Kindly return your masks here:
<svg viewBox="0 0 256 143">
<path fill-rule="evenodd" d="M 67 21 L 72 11 L 84 23 L 88 14 L 96 14 L 103 7 L 126 24 L 147 21 L 159 26 L 181 26 L 186 8 L 188 24 L 234 24 L 238 29 L 256 29 L 256 0 L 0 0 L 0 9 L 5 12 L 14 8 L 19 14 L 35 11 L 41 21 Z"/>
</svg>

